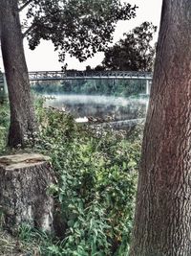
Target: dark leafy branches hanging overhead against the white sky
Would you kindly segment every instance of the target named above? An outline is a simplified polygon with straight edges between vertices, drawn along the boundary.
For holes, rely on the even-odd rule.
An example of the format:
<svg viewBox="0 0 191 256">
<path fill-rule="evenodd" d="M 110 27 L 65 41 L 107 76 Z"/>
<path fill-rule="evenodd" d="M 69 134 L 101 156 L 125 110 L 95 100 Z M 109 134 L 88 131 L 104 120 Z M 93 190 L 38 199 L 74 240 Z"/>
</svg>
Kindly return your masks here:
<svg viewBox="0 0 191 256">
<path fill-rule="evenodd" d="M 52 40 L 59 60 L 65 53 L 80 61 L 105 51 L 113 40 L 118 20 L 136 16 L 137 7 L 120 0 L 26 0 L 27 18 L 31 26 L 24 32 L 33 50 L 40 39 Z"/>
</svg>

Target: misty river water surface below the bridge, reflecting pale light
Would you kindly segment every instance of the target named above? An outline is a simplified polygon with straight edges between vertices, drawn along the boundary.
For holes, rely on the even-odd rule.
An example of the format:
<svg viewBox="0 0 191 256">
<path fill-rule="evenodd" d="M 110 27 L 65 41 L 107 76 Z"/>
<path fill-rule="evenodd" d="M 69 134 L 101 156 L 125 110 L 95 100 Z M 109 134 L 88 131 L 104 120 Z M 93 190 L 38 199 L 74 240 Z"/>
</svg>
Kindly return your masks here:
<svg viewBox="0 0 191 256">
<path fill-rule="evenodd" d="M 144 118 L 148 98 L 123 98 L 93 95 L 44 95 L 45 106 L 53 106 L 70 111 L 74 118 L 98 118 L 103 121 L 119 121 Z"/>
</svg>

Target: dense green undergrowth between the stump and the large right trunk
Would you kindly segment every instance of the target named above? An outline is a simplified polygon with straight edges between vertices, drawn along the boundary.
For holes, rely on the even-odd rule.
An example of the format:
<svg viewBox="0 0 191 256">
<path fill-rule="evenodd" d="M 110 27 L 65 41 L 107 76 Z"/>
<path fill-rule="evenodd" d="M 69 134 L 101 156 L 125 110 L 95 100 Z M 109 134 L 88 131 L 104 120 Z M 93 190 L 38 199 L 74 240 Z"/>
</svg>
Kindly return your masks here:
<svg viewBox="0 0 191 256">
<path fill-rule="evenodd" d="M 46 256 L 127 255 L 137 187 L 138 134 L 128 140 L 120 132 L 96 133 L 75 124 L 69 113 L 45 109 L 41 103 L 36 113 L 40 134 L 35 148 L 29 141 L 27 151 L 52 158 L 58 182 L 49 192 L 56 201 L 57 236 L 23 225 L 18 232 L 20 243 L 38 244 L 39 255 Z M 0 123 L 2 153 L 7 118 Z"/>
</svg>

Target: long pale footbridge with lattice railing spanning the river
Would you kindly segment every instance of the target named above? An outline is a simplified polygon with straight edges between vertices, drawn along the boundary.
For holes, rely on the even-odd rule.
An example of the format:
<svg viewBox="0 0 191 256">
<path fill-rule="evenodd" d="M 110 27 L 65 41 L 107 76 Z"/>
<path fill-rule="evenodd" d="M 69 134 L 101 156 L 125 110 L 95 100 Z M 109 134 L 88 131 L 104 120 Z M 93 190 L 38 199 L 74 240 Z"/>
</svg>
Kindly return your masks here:
<svg viewBox="0 0 191 256">
<path fill-rule="evenodd" d="M 30 81 L 62 80 L 145 80 L 146 93 L 150 93 L 150 81 L 153 74 L 137 71 L 32 71 Z M 7 91 L 5 74 L 0 77 L 0 91 Z"/>
</svg>

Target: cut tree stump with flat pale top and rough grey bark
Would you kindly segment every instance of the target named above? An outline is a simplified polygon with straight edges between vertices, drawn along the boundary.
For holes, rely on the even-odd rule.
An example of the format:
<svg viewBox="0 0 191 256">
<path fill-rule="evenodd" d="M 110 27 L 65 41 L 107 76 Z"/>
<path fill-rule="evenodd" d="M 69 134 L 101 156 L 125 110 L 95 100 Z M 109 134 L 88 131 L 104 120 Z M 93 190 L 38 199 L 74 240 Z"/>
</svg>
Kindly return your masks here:
<svg viewBox="0 0 191 256">
<path fill-rule="evenodd" d="M 53 230 L 53 198 L 47 188 L 54 179 L 49 160 L 37 153 L 0 157 L 0 213 L 10 231 L 21 223 Z"/>
</svg>

